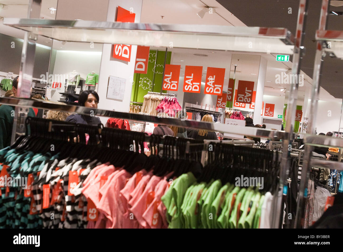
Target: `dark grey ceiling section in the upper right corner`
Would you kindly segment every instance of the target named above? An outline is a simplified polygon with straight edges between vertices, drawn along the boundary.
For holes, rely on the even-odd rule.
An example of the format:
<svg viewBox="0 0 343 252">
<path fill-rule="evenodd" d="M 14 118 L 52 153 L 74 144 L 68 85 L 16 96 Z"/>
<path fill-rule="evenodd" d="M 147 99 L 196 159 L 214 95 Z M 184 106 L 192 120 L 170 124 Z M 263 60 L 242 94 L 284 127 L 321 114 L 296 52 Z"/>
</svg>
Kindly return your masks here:
<svg viewBox="0 0 343 252">
<path fill-rule="evenodd" d="M 283 27 L 295 34 L 299 0 L 240 0 L 239 4 L 236 1 L 217 1 L 247 26 Z M 300 68 L 312 78 L 316 50 L 315 32 L 319 26 L 322 0 L 308 1 L 304 39 L 306 55 L 302 59 Z M 242 8 L 242 6 L 249 6 L 249 8 Z M 288 14 L 288 8 L 292 8 L 292 14 Z M 329 11 L 343 11 L 343 7 L 330 6 Z M 327 29 L 343 30 L 343 15 L 328 15 Z M 320 80 L 320 86 L 335 98 L 343 98 L 343 89 L 340 88 L 343 79 L 342 63 L 340 59 L 326 57 L 322 64 L 321 73 L 324 77 Z"/>
</svg>

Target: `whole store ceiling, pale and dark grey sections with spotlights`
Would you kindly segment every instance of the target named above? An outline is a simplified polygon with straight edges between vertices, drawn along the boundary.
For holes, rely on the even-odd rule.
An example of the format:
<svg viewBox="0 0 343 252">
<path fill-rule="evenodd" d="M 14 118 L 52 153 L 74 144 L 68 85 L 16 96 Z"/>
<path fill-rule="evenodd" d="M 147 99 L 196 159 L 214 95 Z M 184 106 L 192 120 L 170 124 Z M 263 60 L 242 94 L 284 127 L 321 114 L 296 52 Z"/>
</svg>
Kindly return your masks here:
<svg viewBox="0 0 343 252">
<path fill-rule="evenodd" d="M 299 0 L 287 0 L 283 2 L 281 0 L 272 1 L 249 1 L 240 0 L 239 4 L 234 1 L 223 1 L 223 0 L 143 0 L 141 23 L 178 23 L 178 24 L 211 24 L 211 25 L 229 25 L 229 26 L 267 26 L 267 27 L 285 27 L 288 28 L 293 34 L 295 32 L 296 21 L 297 21 L 297 10 Z M 315 5 L 321 0 L 311 0 L 310 11 L 316 9 Z M 0 0 L 0 3 L 7 5 L 5 9 L 0 9 L 0 16 L 3 17 L 22 17 L 25 18 L 27 15 L 27 4 L 28 0 Z M 107 14 L 108 0 L 98 0 L 97 4 L 94 4 L 93 0 L 42 0 L 42 8 L 40 16 L 46 19 L 84 19 L 84 20 L 97 20 L 105 21 Z M 197 12 L 202 10 L 203 7 L 208 6 L 215 9 L 212 14 L 209 12 L 205 13 L 204 17 L 200 19 L 197 16 Z M 242 6 L 249 6 L 249 8 L 242 8 Z M 52 13 L 49 8 L 57 8 L 57 11 Z M 175 8 L 177 7 L 177 8 Z M 292 8 L 292 14 L 288 14 L 288 8 Z M 75 11 L 77 9 L 78 11 Z M 256 12 L 256 10 L 259 12 Z M 342 9 L 343 10 L 343 9 Z M 314 12 L 316 13 L 316 12 Z M 319 13 L 318 13 L 319 15 Z M 268 19 L 265 17 L 268 16 Z M 341 17 L 341 16 L 340 16 Z M 319 17 L 309 16 L 309 24 L 318 24 Z M 330 15 L 329 23 L 332 20 Z M 342 20 L 343 21 L 343 20 Z M 341 22 L 342 23 L 342 22 Z M 313 31 L 308 32 L 306 29 L 306 36 L 313 34 L 318 25 L 312 25 Z M 307 26 L 311 27 L 311 25 Z M 24 32 L 12 27 L 2 25 L 0 19 L 0 33 L 7 34 L 10 36 L 23 38 Z M 307 54 L 303 59 L 301 72 L 305 75 L 305 85 L 299 87 L 298 98 L 303 98 L 305 89 L 311 88 L 314 62 L 314 53 L 309 53 L 308 48 L 312 48 L 315 43 L 311 39 L 306 38 L 305 46 L 307 48 Z M 309 43 L 309 42 L 310 43 Z M 52 46 L 56 50 L 78 50 L 78 51 L 102 51 L 102 44 L 94 44 L 94 48 L 90 49 L 88 43 L 75 43 L 47 39 L 39 36 L 37 43 L 46 46 Z M 307 44 L 306 44 L 307 43 Z M 64 44 L 64 45 L 63 45 Z M 312 47 L 311 47 L 312 46 Z M 229 76 L 229 72 L 226 71 L 225 77 L 233 77 L 233 68 L 231 60 L 228 60 L 228 55 L 237 54 L 232 51 L 209 51 L 209 50 L 197 50 L 197 49 L 180 49 L 173 48 L 173 63 L 181 64 L 181 75 L 184 72 L 184 67 L 188 65 L 203 65 L 203 70 L 208 66 L 210 67 L 225 67 L 230 68 L 232 71 Z M 202 53 L 208 55 L 208 57 L 194 56 L 194 53 Z M 276 84 L 275 74 L 281 74 L 288 69 L 292 68 L 292 62 L 277 62 L 275 60 L 276 55 L 274 54 L 258 54 L 258 53 L 239 53 L 239 55 L 260 55 L 267 59 L 267 72 L 266 72 L 266 83 L 264 94 L 274 96 L 285 96 L 287 97 L 286 91 L 281 92 L 280 87 L 285 87 L 289 90 L 289 85 Z M 231 56 L 230 56 L 231 57 Z M 242 56 L 243 57 L 243 56 Z M 244 79 L 248 80 L 251 77 L 251 73 L 258 73 L 256 64 L 251 63 L 251 57 L 247 57 L 247 60 L 243 61 L 241 57 L 240 66 L 237 68 L 237 74 L 241 74 Z M 180 61 L 185 60 L 185 61 Z M 232 59 L 234 61 L 234 57 Z M 324 61 L 324 70 L 329 68 L 331 73 L 323 80 L 323 83 L 339 83 L 338 78 L 343 78 L 343 71 L 341 71 L 338 65 L 333 61 L 337 59 L 328 59 Z M 339 60 L 340 61 L 340 60 Z M 243 63 L 244 62 L 244 63 Z M 333 67 L 332 67 L 333 66 Z M 243 68 L 243 69 L 239 69 Z M 335 71 L 333 71 L 335 70 Z M 239 73 L 241 71 L 241 73 Z M 325 72 L 325 71 L 324 71 Z M 324 73 L 323 72 L 323 73 Z M 337 73 L 333 73 L 337 72 Z M 203 81 L 205 81 L 205 71 L 203 71 Z M 342 74 L 342 76 L 341 76 Z M 257 78 L 257 75 L 256 75 Z M 326 87 L 325 85 L 322 86 Z M 332 85 L 331 85 L 332 86 Z M 326 87 L 327 88 L 327 87 Z M 337 88 L 337 87 L 336 87 Z M 329 89 L 328 89 L 329 90 Z M 343 92 L 343 91 L 342 91 Z M 338 92 L 335 92 L 338 93 Z M 336 95 L 337 96 L 337 95 Z M 330 100 L 331 96 L 328 92 L 321 88 L 320 99 Z"/>
</svg>

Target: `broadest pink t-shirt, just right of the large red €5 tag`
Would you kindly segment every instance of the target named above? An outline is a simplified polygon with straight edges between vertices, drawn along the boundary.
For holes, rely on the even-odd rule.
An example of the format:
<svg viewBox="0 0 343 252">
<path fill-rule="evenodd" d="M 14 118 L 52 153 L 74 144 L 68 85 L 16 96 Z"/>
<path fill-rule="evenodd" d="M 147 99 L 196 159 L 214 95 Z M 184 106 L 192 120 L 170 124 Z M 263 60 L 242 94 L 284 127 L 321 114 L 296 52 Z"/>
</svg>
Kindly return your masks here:
<svg viewBox="0 0 343 252">
<path fill-rule="evenodd" d="M 112 223 L 112 228 L 121 228 L 121 219 L 125 209 L 121 204 L 119 192 L 125 187 L 127 179 L 131 174 L 126 170 L 120 170 L 111 180 L 97 206 L 99 212 L 103 213 Z M 103 186 L 103 188 L 105 185 Z M 107 224 L 106 224 L 107 226 Z"/>
</svg>

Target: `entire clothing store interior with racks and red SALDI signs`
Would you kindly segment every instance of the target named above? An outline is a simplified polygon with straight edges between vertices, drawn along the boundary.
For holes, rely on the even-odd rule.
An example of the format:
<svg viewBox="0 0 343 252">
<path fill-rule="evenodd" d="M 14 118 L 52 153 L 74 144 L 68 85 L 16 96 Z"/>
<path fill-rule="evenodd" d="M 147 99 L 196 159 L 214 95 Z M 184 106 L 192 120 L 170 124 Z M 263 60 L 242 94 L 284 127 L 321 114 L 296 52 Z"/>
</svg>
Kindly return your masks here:
<svg viewBox="0 0 343 252">
<path fill-rule="evenodd" d="M 240 2 L 0 0 L 0 228 L 342 228 L 343 1 Z"/>
</svg>

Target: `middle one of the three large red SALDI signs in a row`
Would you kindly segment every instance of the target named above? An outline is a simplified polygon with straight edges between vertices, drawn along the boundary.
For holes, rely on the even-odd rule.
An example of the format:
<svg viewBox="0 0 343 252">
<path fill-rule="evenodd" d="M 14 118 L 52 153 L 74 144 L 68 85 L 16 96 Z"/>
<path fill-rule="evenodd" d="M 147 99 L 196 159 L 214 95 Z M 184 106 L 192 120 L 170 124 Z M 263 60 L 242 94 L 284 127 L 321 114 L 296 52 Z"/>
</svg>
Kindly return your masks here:
<svg viewBox="0 0 343 252">
<path fill-rule="evenodd" d="M 202 67 L 186 65 L 184 78 L 184 92 L 200 93 Z"/>
</svg>

